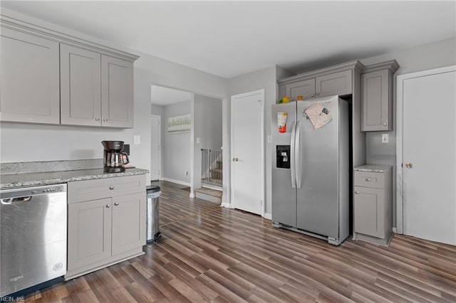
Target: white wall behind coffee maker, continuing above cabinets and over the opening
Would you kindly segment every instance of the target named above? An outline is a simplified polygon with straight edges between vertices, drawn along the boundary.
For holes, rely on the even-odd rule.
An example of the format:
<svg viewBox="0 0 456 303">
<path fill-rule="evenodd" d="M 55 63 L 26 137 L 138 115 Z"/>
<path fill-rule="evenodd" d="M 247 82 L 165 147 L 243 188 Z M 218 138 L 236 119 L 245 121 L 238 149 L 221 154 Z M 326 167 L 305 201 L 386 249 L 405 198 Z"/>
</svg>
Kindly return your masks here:
<svg viewBox="0 0 456 303">
<path fill-rule="evenodd" d="M 45 161 L 71 159 L 97 159 L 103 157 L 104 139 L 118 139 L 130 143 L 132 164 L 150 168 L 150 85 L 174 87 L 202 95 L 224 98 L 227 96 L 227 80 L 204 73 L 185 65 L 172 63 L 108 41 L 87 36 L 15 11 L 2 9 L 2 14 L 31 22 L 54 31 L 100 43 L 140 55 L 135 61 L 135 125 L 133 129 L 115 130 L 88 127 L 62 127 L 43 124 L 12 124 L 2 122 L 1 162 Z M 133 144 L 133 135 L 140 135 L 141 144 Z M 147 175 L 150 181 L 150 174 Z"/>
</svg>

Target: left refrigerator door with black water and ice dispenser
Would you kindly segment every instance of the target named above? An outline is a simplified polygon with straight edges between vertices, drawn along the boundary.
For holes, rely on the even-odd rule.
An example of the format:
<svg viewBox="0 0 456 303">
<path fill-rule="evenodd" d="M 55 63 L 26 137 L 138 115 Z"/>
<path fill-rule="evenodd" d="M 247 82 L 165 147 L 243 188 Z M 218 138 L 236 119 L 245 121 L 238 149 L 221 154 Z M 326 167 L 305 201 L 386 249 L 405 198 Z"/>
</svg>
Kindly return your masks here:
<svg viewBox="0 0 456 303">
<path fill-rule="evenodd" d="M 279 112 L 288 114 L 285 132 L 279 132 Z M 294 150 L 291 149 L 294 142 L 291 134 L 296 125 L 296 102 L 272 105 L 271 118 L 272 220 L 296 226 L 296 188 L 293 188 L 291 178 L 291 167 L 294 165 Z"/>
</svg>

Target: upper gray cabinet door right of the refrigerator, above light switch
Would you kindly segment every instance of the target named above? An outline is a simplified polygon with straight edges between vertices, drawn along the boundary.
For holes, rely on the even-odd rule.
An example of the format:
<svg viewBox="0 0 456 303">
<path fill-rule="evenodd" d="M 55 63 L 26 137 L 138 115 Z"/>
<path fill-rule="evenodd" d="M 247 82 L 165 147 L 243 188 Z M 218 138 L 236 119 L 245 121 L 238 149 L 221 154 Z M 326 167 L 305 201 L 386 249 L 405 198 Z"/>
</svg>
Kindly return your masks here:
<svg viewBox="0 0 456 303">
<path fill-rule="evenodd" d="M 361 131 L 393 130 L 389 70 L 361 75 Z"/>
</svg>

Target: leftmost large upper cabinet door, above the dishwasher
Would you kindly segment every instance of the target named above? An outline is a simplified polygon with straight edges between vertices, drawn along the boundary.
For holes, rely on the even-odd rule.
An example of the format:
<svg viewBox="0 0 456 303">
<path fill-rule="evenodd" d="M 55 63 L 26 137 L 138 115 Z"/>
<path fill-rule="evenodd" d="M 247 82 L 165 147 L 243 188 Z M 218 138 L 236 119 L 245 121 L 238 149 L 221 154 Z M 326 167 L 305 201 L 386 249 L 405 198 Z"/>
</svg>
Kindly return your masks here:
<svg viewBox="0 0 456 303">
<path fill-rule="evenodd" d="M 60 123 L 58 43 L 1 28 L 0 119 Z"/>
</svg>

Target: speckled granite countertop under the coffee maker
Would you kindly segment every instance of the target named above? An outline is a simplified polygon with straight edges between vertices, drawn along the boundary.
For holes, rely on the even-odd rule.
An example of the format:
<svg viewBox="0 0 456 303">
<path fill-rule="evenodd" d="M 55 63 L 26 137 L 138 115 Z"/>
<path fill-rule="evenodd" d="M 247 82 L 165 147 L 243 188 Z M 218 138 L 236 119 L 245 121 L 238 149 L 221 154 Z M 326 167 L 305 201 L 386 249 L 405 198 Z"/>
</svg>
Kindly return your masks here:
<svg viewBox="0 0 456 303">
<path fill-rule="evenodd" d="M 147 174 L 147 169 L 125 169 L 122 173 L 105 173 L 103 168 L 79 169 L 74 171 L 49 171 L 25 174 L 1 174 L 0 188 L 16 188 L 24 186 L 40 186 L 59 184 L 71 181 L 105 179 L 118 176 L 134 176 Z"/>
</svg>

